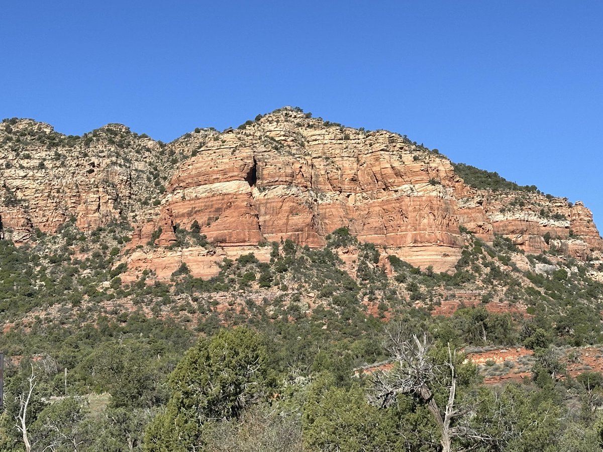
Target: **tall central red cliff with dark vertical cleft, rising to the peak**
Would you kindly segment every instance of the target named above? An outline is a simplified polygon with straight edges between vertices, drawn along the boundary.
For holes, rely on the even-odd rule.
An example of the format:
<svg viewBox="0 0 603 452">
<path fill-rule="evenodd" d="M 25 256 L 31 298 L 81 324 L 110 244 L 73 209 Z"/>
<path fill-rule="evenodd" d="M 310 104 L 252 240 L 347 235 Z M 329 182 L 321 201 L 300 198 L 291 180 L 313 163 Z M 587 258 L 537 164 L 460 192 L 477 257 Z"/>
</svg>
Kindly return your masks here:
<svg viewBox="0 0 603 452">
<path fill-rule="evenodd" d="M 326 127 L 287 109 L 216 136 L 178 168 L 159 242 L 174 239 L 170 225 L 194 221 L 222 246 L 291 239 L 317 247 L 347 227 L 415 265 L 444 269 L 464 244 L 457 183 L 449 160 L 396 134 Z"/>
</svg>

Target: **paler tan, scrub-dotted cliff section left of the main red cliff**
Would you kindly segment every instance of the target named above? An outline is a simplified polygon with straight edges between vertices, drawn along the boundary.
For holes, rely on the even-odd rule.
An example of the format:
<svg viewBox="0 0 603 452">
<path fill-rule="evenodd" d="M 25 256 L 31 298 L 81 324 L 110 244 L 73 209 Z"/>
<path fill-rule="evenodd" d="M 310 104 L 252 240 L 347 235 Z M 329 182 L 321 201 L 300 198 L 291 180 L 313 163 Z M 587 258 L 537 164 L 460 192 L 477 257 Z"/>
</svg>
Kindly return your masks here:
<svg viewBox="0 0 603 452">
<path fill-rule="evenodd" d="M 168 151 L 119 124 L 67 137 L 29 119 L 4 122 L 2 231 L 11 231 L 11 239 L 22 243 L 34 228 L 54 232 L 70 219 L 90 231 L 154 217 L 152 201 L 160 196 L 162 180 L 183 158 L 185 152 Z"/>
</svg>

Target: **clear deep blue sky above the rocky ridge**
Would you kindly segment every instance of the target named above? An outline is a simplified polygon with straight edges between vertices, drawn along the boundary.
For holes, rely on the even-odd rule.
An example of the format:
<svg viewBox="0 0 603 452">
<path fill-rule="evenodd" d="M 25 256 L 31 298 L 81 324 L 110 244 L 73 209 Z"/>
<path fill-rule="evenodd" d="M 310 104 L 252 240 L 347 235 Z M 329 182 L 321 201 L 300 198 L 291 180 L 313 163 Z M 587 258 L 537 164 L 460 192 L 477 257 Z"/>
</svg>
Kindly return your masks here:
<svg viewBox="0 0 603 452">
<path fill-rule="evenodd" d="M 0 118 L 170 141 L 297 105 L 582 200 L 603 229 L 603 2 L 11 1 Z"/>
</svg>

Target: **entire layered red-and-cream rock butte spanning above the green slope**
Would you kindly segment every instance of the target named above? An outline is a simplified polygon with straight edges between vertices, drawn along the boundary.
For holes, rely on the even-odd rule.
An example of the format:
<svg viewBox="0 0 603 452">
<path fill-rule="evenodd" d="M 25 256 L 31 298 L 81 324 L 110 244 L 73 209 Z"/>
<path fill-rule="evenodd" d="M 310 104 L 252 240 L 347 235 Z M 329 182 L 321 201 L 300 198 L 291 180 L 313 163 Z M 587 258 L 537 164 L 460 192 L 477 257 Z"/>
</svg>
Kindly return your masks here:
<svg viewBox="0 0 603 452">
<path fill-rule="evenodd" d="M 30 120 L 12 127 L 56 134 Z M 111 138 L 117 134 L 128 137 L 125 147 Z M 6 135 L 0 125 L 0 140 Z M 268 260 L 268 249 L 259 244 L 274 240 L 324 246 L 327 234 L 340 227 L 435 271 L 450 270 L 461 256 L 461 226 L 485 242 L 494 233 L 507 236 L 526 253 L 556 246 L 586 260 L 603 249 L 581 202 L 570 206 L 565 198 L 529 193 L 521 207 L 510 209 L 521 192 L 474 189 L 438 152 L 399 134 L 333 125 L 294 108 L 241 130 L 197 130 L 168 145 L 134 135 L 108 125 L 93 143 L 82 138 L 60 147 L 66 157 L 58 161 L 52 159 L 57 150 L 47 146 L 31 145 L 25 160 L 1 145 L 0 159 L 11 165 L 0 169 L 0 233 L 10 230 L 22 243 L 35 228 L 56 231 L 69 218 L 84 231 L 125 219 L 134 230 L 131 252 L 122 257 L 130 268 L 125 279 L 144 269 L 168 279 L 182 262 L 193 275 L 210 277 L 224 257 L 253 252 Z M 160 153 L 183 159 L 168 164 Z M 148 184 L 152 162 L 169 180 L 161 189 Z M 156 205 L 142 202 L 150 191 Z M 25 202 L 9 202 L 8 194 Z M 541 209 L 562 219 L 543 218 Z M 176 225 L 188 229 L 195 221 L 212 249 L 166 248 L 175 242 Z M 157 246 L 147 246 L 159 227 Z"/>
</svg>

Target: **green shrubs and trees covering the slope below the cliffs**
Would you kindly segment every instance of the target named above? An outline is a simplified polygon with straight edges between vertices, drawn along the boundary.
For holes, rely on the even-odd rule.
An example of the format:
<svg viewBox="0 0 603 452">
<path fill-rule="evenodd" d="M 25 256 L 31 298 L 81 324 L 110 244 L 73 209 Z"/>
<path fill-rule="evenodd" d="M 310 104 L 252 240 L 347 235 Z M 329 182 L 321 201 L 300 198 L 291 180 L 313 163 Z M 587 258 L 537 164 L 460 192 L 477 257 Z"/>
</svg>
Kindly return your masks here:
<svg viewBox="0 0 603 452">
<path fill-rule="evenodd" d="M 588 378 L 570 377 L 559 355 L 559 347 L 603 342 L 603 292 L 589 263 L 528 256 L 557 263 L 549 273 L 522 272 L 509 240 L 490 246 L 466 234 L 453 274 L 390 256 L 388 276 L 380 252 L 341 228 L 321 250 L 268 244 L 271 262 L 225 260 L 209 280 L 181 268 L 170 284 L 148 284 L 151 274 L 122 284 L 124 228 L 86 236 L 66 224 L 31 245 L 1 243 L 2 450 L 23 450 L 15 398 L 27 394 L 32 369 L 32 450 L 73 450 L 74 441 L 83 451 L 439 450 L 440 427 L 420 398 L 401 393 L 391 406 L 371 404 L 373 379 L 361 369 L 391 357 L 385 319 L 425 331 L 437 366 L 448 345 L 535 351 L 532 377 L 501 389 L 481 385 L 478 368 L 459 355 L 455 403 L 471 410 L 452 425 L 472 428 L 482 442 L 467 436 L 453 439 L 456 447 L 600 447 L 603 380 L 586 368 Z M 181 232 L 183 243 L 189 234 Z M 350 249 L 352 268 L 340 257 Z M 434 315 L 462 293 L 481 304 Z M 508 312 L 488 309 L 496 303 Z M 436 400 L 446 399 L 446 378 L 430 386 Z"/>
</svg>

